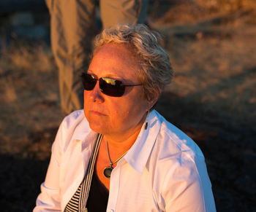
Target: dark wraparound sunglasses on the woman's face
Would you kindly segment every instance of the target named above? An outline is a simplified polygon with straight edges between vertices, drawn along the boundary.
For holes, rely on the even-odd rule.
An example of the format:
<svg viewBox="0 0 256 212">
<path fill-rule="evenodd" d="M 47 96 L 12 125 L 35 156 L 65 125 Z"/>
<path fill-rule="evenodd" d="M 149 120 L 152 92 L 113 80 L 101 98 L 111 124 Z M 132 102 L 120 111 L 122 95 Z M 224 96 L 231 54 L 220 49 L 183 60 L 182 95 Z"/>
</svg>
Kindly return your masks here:
<svg viewBox="0 0 256 212">
<path fill-rule="evenodd" d="M 123 82 L 117 79 L 102 77 L 97 79 L 94 75 L 85 74 L 81 75 L 84 90 L 93 90 L 97 81 L 99 81 L 99 89 L 102 93 L 109 96 L 120 97 L 124 95 L 125 87 L 139 86 L 139 85 L 124 85 Z"/>
</svg>

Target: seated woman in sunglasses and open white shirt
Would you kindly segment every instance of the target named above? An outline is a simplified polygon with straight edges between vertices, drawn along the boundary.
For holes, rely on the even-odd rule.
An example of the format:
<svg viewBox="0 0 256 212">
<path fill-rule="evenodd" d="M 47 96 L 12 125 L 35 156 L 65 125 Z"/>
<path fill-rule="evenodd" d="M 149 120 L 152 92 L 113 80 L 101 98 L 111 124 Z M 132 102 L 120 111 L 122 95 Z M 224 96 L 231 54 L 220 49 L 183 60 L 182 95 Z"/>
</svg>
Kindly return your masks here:
<svg viewBox="0 0 256 212">
<path fill-rule="evenodd" d="M 153 109 L 172 75 L 145 25 L 102 31 L 34 211 L 216 211 L 199 147 Z"/>
</svg>

